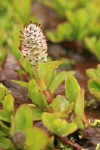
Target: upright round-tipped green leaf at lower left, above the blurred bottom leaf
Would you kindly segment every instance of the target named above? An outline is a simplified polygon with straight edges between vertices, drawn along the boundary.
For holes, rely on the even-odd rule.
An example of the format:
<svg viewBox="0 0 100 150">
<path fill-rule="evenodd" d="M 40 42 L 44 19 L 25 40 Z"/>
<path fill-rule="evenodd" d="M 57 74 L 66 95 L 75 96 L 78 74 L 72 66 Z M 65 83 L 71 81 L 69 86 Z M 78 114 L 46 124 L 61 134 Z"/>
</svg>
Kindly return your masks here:
<svg viewBox="0 0 100 150">
<path fill-rule="evenodd" d="M 22 105 L 15 115 L 15 131 L 24 131 L 33 126 L 33 115 L 28 105 Z"/>
</svg>

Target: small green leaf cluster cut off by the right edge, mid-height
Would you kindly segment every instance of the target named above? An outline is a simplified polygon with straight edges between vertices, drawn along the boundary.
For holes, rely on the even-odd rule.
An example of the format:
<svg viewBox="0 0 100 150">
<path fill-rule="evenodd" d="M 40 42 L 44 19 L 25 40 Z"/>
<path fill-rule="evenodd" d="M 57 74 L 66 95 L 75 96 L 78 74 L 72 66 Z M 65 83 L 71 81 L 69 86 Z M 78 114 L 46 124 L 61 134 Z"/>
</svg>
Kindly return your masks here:
<svg viewBox="0 0 100 150">
<path fill-rule="evenodd" d="M 97 69 L 88 69 L 87 75 L 90 78 L 88 89 L 100 101 L 100 65 L 97 66 Z"/>
</svg>

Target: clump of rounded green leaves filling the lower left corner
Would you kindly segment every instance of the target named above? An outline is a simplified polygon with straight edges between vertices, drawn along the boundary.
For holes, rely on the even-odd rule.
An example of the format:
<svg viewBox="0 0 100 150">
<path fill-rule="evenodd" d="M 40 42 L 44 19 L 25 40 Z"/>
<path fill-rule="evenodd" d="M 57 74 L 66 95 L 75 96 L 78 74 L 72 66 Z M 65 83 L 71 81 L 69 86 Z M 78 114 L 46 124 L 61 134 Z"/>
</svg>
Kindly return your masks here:
<svg viewBox="0 0 100 150">
<path fill-rule="evenodd" d="M 44 149 L 48 142 L 48 136 L 43 130 L 33 126 L 31 108 L 28 105 L 22 105 L 15 113 L 14 99 L 11 94 L 7 94 L 2 103 L 3 110 L 0 110 L 0 148 L 11 150 L 19 148 Z M 6 124 L 7 122 L 9 122 L 9 126 Z M 18 138 L 24 140 L 18 140 Z"/>
</svg>

